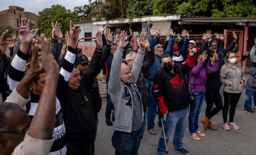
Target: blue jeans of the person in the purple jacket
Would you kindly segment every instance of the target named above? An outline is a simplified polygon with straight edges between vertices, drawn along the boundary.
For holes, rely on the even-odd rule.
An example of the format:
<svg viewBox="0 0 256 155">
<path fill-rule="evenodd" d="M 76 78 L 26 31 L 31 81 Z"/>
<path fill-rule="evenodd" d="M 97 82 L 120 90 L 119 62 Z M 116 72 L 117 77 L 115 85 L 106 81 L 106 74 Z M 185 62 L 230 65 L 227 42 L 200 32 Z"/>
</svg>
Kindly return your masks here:
<svg viewBox="0 0 256 155">
<path fill-rule="evenodd" d="M 194 98 L 195 102 L 190 104 L 188 115 L 188 127 L 191 135 L 195 135 L 198 132 L 198 120 L 203 105 L 204 93 L 194 92 Z"/>
</svg>

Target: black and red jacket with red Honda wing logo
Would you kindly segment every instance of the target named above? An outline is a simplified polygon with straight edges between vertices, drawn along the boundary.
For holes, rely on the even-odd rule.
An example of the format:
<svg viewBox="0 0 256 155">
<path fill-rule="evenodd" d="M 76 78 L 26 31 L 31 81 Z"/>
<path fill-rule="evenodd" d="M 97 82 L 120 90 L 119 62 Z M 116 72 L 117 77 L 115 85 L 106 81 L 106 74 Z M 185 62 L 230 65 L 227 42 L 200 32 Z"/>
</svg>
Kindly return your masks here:
<svg viewBox="0 0 256 155">
<path fill-rule="evenodd" d="M 195 60 L 195 54 L 188 55 L 185 62 L 173 65 L 173 73 L 166 72 L 163 67 L 156 72 L 152 93 L 161 113 L 177 111 L 190 104 L 185 75 L 193 69 Z"/>
</svg>

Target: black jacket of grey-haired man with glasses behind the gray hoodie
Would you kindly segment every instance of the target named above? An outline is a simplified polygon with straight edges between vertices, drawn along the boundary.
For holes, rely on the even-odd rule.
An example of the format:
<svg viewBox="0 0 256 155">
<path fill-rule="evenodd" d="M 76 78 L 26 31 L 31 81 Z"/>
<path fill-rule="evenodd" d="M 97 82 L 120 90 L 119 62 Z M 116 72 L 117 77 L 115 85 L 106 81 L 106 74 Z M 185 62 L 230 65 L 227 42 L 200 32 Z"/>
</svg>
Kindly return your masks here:
<svg viewBox="0 0 256 155">
<path fill-rule="evenodd" d="M 154 51 L 151 48 L 151 51 L 146 52 L 147 60 L 142 64 L 141 71 L 136 82 L 137 88 L 141 94 L 141 100 L 143 105 L 143 111 L 147 111 L 147 90 L 146 90 L 146 82 L 144 79 L 144 73 L 155 63 Z"/>
</svg>

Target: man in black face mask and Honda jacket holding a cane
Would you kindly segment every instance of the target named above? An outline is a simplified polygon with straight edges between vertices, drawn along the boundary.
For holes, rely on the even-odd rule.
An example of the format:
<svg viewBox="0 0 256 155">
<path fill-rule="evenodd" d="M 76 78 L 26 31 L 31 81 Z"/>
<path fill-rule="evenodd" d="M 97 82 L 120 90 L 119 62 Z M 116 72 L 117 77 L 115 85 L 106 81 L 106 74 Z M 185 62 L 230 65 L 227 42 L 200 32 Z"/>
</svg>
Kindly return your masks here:
<svg viewBox="0 0 256 155">
<path fill-rule="evenodd" d="M 164 128 L 166 143 L 168 144 L 169 137 L 175 129 L 174 151 L 184 155 L 190 154 L 183 148 L 182 142 L 187 125 L 188 105 L 190 104 L 185 75 L 195 64 L 195 52 L 195 48 L 190 48 L 188 59 L 182 64 L 174 64 L 171 55 L 163 55 L 162 67 L 156 72 L 152 86 L 152 93 L 160 112 L 167 114 Z M 157 151 L 158 154 L 166 154 L 163 132 L 158 141 Z"/>
</svg>

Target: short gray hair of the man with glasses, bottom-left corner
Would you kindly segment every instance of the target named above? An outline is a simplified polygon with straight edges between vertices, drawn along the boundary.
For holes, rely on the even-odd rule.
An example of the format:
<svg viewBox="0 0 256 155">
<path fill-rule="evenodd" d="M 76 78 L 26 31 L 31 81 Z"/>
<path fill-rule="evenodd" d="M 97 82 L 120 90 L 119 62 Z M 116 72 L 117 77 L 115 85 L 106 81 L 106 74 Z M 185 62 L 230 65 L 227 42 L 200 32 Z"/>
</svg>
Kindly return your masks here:
<svg viewBox="0 0 256 155">
<path fill-rule="evenodd" d="M 22 107 L 18 104 L 15 103 L 10 103 L 10 102 L 1 102 L 0 103 L 0 130 L 4 131 L 6 130 L 7 124 L 8 124 L 8 120 L 6 120 L 6 112 L 8 110 L 21 110 Z"/>
</svg>

